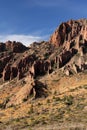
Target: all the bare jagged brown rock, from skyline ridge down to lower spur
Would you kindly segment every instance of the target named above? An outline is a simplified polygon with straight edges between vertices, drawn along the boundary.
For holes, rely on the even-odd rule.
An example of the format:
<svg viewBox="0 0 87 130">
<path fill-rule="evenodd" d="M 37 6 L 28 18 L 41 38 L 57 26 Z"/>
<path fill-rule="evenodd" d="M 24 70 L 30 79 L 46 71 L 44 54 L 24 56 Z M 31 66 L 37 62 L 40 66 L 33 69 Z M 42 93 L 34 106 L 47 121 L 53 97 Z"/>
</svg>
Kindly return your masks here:
<svg viewBox="0 0 87 130">
<path fill-rule="evenodd" d="M 21 83 L 6 107 L 46 97 L 46 82 L 42 82 L 47 74 L 62 71 L 70 76 L 87 69 L 86 23 L 87 20 L 62 23 L 49 42 L 34 42 L 29 48 L 19 42 L 0 43 L 0 78 L 3 81 L 16 78 L 14 82 Z"/>
</svg>

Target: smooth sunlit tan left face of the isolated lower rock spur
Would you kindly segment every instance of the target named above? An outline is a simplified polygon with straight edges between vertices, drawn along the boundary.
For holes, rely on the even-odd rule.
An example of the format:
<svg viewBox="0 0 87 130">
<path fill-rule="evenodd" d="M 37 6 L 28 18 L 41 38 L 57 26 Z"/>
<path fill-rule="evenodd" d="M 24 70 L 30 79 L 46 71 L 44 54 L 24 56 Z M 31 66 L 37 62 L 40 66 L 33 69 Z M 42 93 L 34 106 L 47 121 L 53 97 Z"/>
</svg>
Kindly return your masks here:
<svg viewBox="0 0 87 130">
<path fill-rule="evenodd" d="M 28 99 L 28 97 L 31 95 L 35 83 L 34 79 L 29 76 L 25 78 L 25 82 L 26 84 L 11 98 L 11 101 L 8 102 L 6 107 L 20 104 Z M 34 93 L 33 96 L 35 96 Z"/>
</svg>

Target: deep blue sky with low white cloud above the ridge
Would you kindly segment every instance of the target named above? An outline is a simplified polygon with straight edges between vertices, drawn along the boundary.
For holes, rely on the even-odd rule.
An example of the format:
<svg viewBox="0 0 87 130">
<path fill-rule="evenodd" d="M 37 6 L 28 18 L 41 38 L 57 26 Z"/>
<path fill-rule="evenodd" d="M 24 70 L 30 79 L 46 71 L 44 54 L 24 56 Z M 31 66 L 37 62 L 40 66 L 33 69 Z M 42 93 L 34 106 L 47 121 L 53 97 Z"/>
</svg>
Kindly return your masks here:
<svg viewBox="0 0 87 130">
<path fill-rule="evenodd" d="M 61 22 L 87 17 L 87 0 L 0 0 L 0 42 L 48 40 Z"/>
</svg>

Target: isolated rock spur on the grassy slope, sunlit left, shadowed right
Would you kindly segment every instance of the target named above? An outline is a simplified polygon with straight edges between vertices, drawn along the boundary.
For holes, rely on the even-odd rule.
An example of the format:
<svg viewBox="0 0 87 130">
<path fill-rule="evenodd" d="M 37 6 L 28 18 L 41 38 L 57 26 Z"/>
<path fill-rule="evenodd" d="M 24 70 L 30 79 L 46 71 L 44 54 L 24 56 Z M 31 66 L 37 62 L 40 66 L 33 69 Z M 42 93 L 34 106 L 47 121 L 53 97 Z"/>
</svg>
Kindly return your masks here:
<svg viewBox="0 0 87 130">
<path fill-rule="evenodd" d="M 34 80 L 34 78 L 29 75 L 24 80 L 25 85 L 11 97 L 11 100 L 6 104 L 6 107 L 21 104 L 28 99 L 32 100 L 40 97 L 47 97 L 47 86 L 45 84 L 38 80 Z"/>
</svg>

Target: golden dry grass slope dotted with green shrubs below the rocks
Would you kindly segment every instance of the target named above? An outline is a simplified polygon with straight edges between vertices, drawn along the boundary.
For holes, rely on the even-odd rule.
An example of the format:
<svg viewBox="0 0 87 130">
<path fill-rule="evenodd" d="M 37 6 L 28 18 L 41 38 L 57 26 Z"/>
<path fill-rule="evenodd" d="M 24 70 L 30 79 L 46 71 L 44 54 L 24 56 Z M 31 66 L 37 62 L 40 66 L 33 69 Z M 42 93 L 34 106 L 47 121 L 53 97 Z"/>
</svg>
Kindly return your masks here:
<svg viewBox="0 0 87 130">
<path fill-rule="evenodd" d="M 48 79 L 46 81 L 46 79 Z M 40 81 L 48 86 L 49 96 L 27 100 L 20 105 L 0 109 L 0 127 L 11 125 L 12 128 L 37 128 L 63 123 L 82 123 L 87 125 L 87 75 L 71 77 L 59 76 L 58 73 L 46 76 Z M 19 91 L 21 86 L 6 86 L 1 89 L 0 103 Z M 3 91 L 3 93 L 2 93 Z M 3 97 L 3 98 L 2 98 Z M 80 113 L 80 114 L 79 114 Z M 42 130 L 42 129 L 41 129 Z"/>
</svg>

